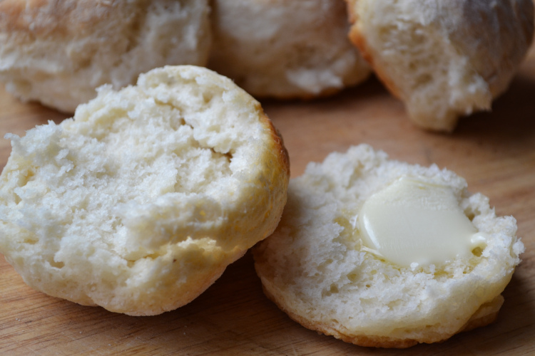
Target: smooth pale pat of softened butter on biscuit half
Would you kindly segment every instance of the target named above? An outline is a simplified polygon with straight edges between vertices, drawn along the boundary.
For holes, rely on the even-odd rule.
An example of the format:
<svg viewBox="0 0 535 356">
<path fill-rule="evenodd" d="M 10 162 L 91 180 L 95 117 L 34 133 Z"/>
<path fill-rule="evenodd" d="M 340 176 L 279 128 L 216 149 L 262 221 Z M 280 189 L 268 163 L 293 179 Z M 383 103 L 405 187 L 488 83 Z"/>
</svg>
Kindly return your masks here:
<svg viewBox="0 0 535 356">
<path fill-rule="evenodd" d="M 358 221 L 365 251 L 399 266 L 442 265 L 486 246 L 451 188 L 409 177 L 367 199 Z"/>
</svg>

